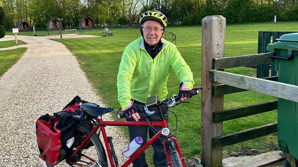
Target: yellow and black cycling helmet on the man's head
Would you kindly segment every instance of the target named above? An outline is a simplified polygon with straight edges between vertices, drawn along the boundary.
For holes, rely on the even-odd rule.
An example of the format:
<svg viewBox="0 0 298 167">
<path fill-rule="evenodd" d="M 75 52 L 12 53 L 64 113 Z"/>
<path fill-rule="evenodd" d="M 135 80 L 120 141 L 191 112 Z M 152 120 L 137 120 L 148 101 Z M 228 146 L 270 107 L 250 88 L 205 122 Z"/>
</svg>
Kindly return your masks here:
<svg viewBox="0 0 298 167">
<path fill-rule="evenodd" d="M 147 20 L 154 20 L 159 22 L 164 28 L 167 27 L 168 25 L 168 19 L 167 17 L 162 14 L 160 11 L 156 11 L 155 9 L 145 11 L 141 16 L 140 16 L 140 24 L 142 25 L 145 21 Z"/>
</svg>

